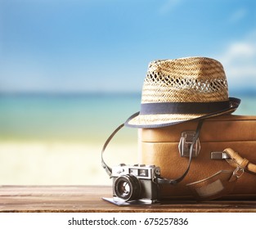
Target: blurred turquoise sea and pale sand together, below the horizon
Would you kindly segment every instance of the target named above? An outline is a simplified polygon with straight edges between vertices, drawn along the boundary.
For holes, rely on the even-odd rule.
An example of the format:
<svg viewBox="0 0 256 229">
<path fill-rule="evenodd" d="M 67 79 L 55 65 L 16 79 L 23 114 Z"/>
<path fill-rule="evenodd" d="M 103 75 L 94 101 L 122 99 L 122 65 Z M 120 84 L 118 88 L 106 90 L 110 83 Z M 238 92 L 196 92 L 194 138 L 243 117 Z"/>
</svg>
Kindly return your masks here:
<svg viewBox="0 0 256 229">
<path fill-rule="evenodd" d="M 235 115 L 256 115 L 256 96 L 242 95 Z M 140 109 L 141 95 L 3 94 L 0 184 L 110 185 L 101 149 Z M 106 149 L 107 164 L 137 163 L 137 129 L 123 128 Z"/>
</svg>

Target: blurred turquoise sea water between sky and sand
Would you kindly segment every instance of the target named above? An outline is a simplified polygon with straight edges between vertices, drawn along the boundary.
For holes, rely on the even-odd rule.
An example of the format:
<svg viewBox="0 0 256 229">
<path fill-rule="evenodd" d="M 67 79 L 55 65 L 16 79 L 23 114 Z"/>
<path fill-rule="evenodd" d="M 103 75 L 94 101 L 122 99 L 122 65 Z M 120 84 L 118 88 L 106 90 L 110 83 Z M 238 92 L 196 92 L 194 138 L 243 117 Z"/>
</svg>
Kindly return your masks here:
<svg viewBox="0 0 256 229">
<path fill-rule="evenodd" d="M 236 115 L 256 115 L 256 97 L 240 97 Z M 2 95 L 0 141 L 103 142 L 140 108 L 140 94 Z M 126 128 L 119 141 L 136 138 Z"/>
</svg>

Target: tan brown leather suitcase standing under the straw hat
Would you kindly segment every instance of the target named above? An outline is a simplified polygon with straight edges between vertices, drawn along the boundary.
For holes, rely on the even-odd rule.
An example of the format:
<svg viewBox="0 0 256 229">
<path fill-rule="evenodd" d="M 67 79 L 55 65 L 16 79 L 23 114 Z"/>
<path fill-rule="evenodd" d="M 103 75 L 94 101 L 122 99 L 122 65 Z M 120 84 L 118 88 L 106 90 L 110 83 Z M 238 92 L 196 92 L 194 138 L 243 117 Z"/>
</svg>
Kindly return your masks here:
<svg viewBox="0 0 256 229">
<path fill-rule="evenodd" d="M 191 131 L 195 131 L 197 123 L 193 120 L 164 128 L 139 129 L 139 163 L 159 166 L 164 178 L 180 177 L 187 168 Z M 204 119 L 196 147 L 182 182 L 161 186 L 163 198 L 256 199 L 256 116 L 222 115 Z M 231 161 L 228 150 L 223 152 L 227 148 L 239 153 L 240 163 Z"/>
</svg>

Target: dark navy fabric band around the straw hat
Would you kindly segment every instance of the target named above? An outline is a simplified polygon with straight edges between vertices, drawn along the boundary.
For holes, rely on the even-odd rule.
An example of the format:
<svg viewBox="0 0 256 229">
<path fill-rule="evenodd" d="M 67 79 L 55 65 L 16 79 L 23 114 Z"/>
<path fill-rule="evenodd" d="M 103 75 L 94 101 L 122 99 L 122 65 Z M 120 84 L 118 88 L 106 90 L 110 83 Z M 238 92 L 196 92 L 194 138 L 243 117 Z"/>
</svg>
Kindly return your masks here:
<svg viewBox="0 0 256 229">
<path fill-rule="evenodd" d="M 210 114 L 230 108 L 230 101 L 142 103 L 140 115 Z"/>
</svg>

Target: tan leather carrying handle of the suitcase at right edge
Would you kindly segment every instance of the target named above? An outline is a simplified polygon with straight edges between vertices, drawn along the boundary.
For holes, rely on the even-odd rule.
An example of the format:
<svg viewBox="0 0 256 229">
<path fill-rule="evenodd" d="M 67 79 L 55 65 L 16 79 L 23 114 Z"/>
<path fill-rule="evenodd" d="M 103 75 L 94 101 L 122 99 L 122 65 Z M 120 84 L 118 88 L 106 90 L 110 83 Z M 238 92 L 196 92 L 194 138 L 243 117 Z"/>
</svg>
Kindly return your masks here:
<svg viewBox="0 0 256 229">
<path fill-rule="evenodd" d="M 230 156 L 230 159 L 226 159 L 231 166 L 235 168 L 241 168 L 246 172 L 253 173 L 256 175 L 256 164 L 249 162 L 248 159 L 242 158 L 239 153 L 231 148 L 227 148 L 224 152 Z"/>
</svg>

